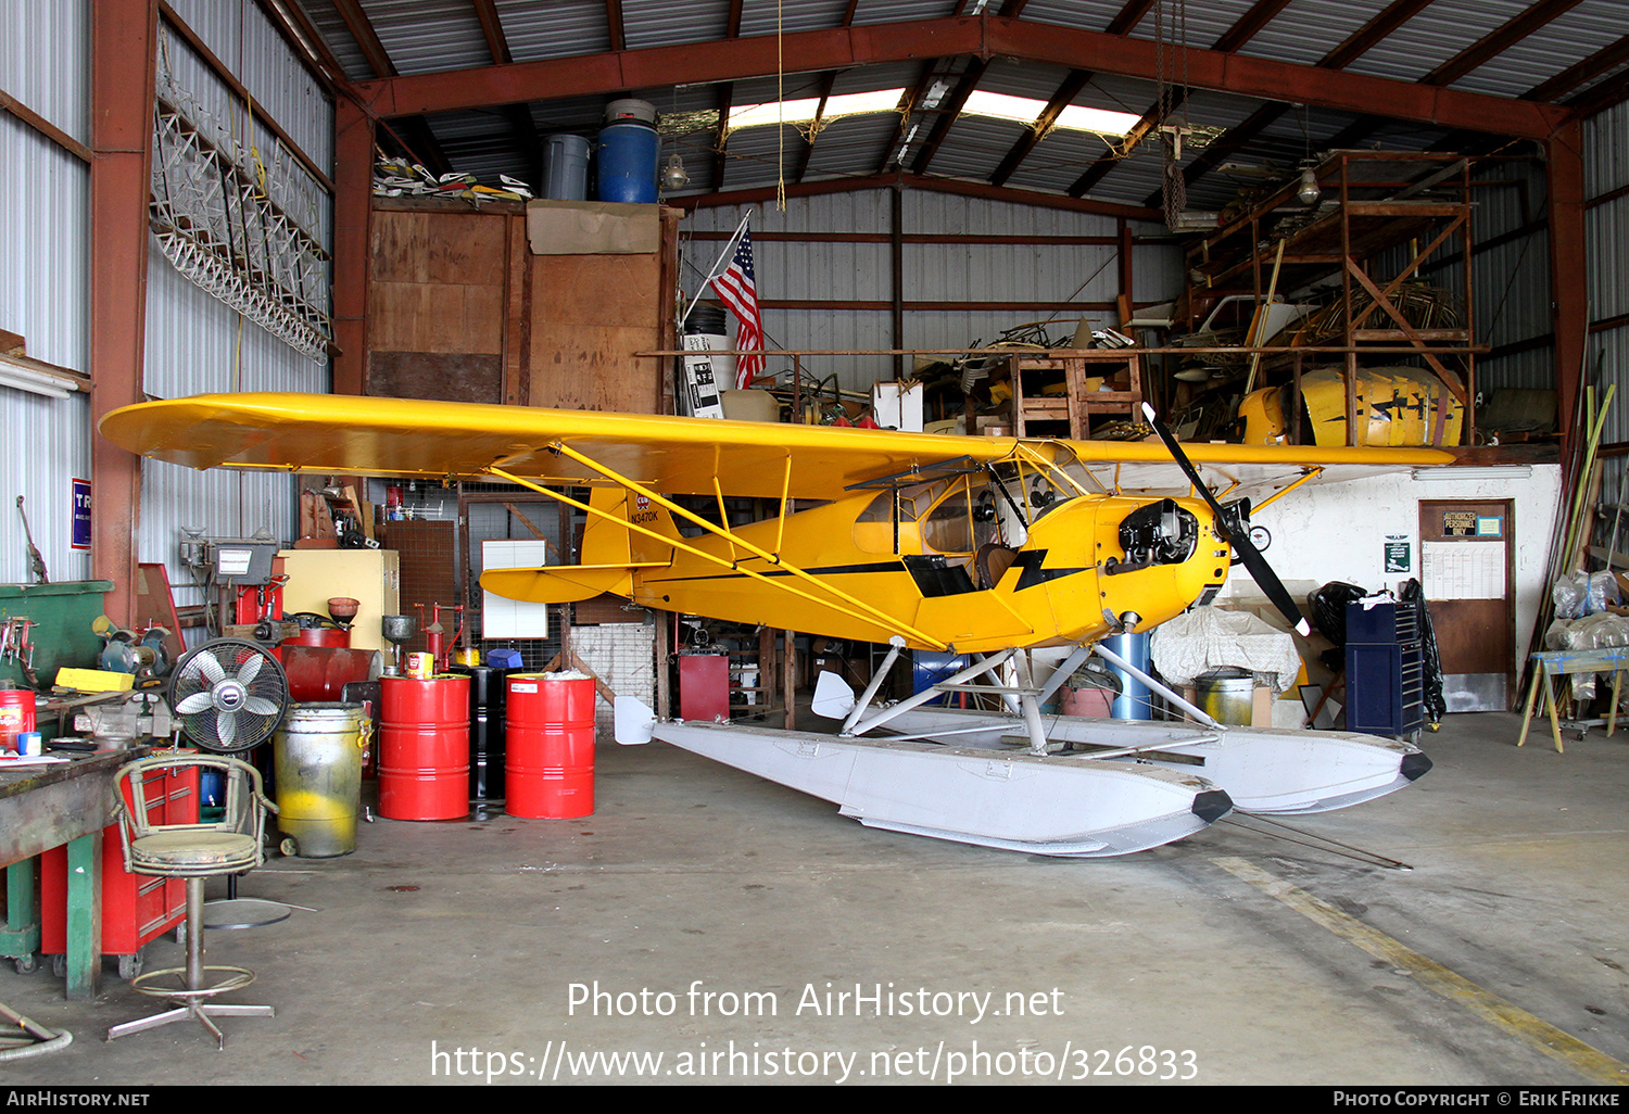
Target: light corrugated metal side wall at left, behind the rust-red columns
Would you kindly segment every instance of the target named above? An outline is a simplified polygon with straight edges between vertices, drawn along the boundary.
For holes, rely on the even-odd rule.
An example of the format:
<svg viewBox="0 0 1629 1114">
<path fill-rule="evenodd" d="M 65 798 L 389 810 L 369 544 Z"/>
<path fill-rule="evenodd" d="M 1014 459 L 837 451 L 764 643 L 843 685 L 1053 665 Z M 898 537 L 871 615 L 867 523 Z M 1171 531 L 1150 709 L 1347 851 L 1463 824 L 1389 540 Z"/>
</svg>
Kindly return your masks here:
<svg viewBox="0 0 1629 1114">
<path fill-rule="evenodd" d="M 316 160 L 332 164 L 332 106 L 275 36 L 252 0 L 179 0 L 179 16 L 209 44 L 269 112 Z M 171 62 L 191 91 L 222 119 L 241 117 L 236 98 L 169 36 Z M 0 3 L 0 90 L 90 142 L 90 3 Z M 37 65 L 39 59 L 64 65 Z M 21 334 L 28 353 L 75 371 L 90 366 L 90 168 L 15 116 L 0 112 L 0 329 Z M 331 205 L 318 212 L 331 243 Z M 156 397 L 199 391 L 326 391 L 327 368 L 310 362 L 182 278 L 156 251 L 148 257 L 147 376 Z M 91 575 L 90 554 L 72 549 L 72 480 L 90 477 L 91 428 L 85 394 L 57 401 L 0 388 L 0 581 L 31 580 L 15 500 L 24 497 L 29 526 L 52 580 Z M 200 603 L 182 590 L 174 560 L 181 526 L 243 536 L 267 528 L 280 539 L 298 533 L 295 482 L 279 476 L 194 472 L 148 463 L 142 477 L 138 554 L 165 562 L 178 603 Z M 15 542 L 13 542 L 15 539 Z"/>
</svg>

